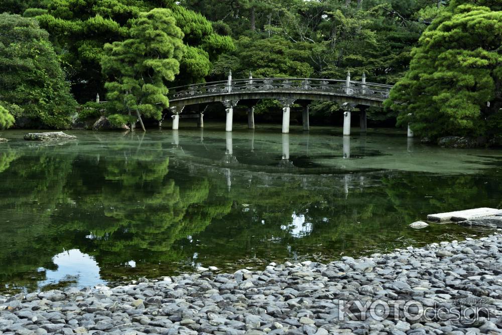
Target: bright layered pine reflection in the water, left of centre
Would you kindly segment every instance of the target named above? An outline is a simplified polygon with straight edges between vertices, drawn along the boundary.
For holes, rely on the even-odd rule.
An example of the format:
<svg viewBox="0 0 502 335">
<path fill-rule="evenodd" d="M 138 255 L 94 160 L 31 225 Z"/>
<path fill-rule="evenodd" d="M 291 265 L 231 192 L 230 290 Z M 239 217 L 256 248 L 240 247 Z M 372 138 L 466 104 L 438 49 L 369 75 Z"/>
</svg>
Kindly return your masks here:
<svg viewBox="0 0 502 335">
<path fill-rule="evenodd" d="M 90 233 L 78 236 L 73 243 L 95 256 L 101 275 L 108 279 L 120 272 L 127 274 L 123 265 L 131 260 L 137 271 L 142 266 L 179 261 L 183 256 L 173 244 L 204 230 L 231 205 L 228 201 L 206 203 L 210 187 L 207 178 L 176 183 L 170 179 L 169 157 L 162 158 L 160 143 L 144 145 L 136 153 L 116 151 L 101 158 L 91 174 L 82 173 L 74 181 L 84 190 L 70 187 L 81 200 L 72 209 L 78 223 L 71 223 L 67 229 L 69 238 L 77 237 L 77 232 Z M 96 222 L 95 218 L 100 220 Z"/>
</svg>

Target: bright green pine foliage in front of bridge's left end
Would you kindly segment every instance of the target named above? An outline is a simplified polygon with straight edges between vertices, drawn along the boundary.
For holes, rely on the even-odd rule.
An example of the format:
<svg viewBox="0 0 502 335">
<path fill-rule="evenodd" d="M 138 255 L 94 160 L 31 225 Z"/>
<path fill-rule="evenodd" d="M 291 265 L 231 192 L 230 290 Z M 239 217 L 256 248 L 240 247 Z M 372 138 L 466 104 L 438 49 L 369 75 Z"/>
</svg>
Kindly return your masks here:
<svg viewBox="0 0 502 335">
<path fill-rule="evenodd" d="M 166 82 L 179 73 L 185 47 L 172 12 L 154 9 L 140 13 L 131 38 L 104 46 L 103 73 L 110 78 L 107 98 L 122 113 L 138 112 L 160 120 L 169 107 Z"/>
</svg>

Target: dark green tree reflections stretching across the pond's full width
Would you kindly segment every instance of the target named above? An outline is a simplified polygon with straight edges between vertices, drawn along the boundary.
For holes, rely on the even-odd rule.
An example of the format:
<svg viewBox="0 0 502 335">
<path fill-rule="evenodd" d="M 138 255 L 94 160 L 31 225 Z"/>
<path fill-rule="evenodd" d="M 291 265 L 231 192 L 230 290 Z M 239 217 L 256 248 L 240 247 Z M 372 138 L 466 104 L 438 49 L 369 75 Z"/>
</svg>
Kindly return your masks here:
<svg viewBox="0 0 502 335">
<path fill-rule="evenodd" d="M 172 274 L 192 262 L 235 268 L 250 257 L 327 261 L 433 242 L 445 232 L 455 238 L 453 225 L 417 232 L 408 224 L 429 212 L 498 206 L 490 195 L 500 186 L 476 176 L 308 176 L 240 164 L 229 189 L 226 166 L 193 156 L 173 162 L 166 143 L 109 143 L 0 152 L 0 282 L 33 288 L 34 278 L 44 279 L 37 269 L 54 268 L 51 258 L 68 249 L 92 255 L 106 280 Z M 293 215 L 308 226 L 301 234 Z"/>
</svg>

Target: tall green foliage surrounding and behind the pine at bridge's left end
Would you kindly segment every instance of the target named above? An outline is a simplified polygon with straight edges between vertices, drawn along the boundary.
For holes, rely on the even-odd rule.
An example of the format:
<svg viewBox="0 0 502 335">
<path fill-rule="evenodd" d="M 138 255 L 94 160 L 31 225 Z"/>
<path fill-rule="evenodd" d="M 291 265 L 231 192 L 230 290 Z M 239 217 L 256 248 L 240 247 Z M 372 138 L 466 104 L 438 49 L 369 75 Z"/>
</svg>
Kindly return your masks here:
<svg viewBox="0 0 502 335">
<path fill-rule="evenodd" d="M 142 12 L 170 9 L 185 33 L 184 43 L 193 48 L 181 60 L 182 74 L 175 85 L 203 81 L 210 72 L 211 61 L 233 49 L 231 38 L 215 34 L 202 15 L 170 0 L 51 0 L 47 8 L 48 13 L 37 19 L 51 34 L 80 102 L 93 100 L 96 92 L 104 90 L 103 47 L 128 39 L 131 24 Z"/>
</svg>

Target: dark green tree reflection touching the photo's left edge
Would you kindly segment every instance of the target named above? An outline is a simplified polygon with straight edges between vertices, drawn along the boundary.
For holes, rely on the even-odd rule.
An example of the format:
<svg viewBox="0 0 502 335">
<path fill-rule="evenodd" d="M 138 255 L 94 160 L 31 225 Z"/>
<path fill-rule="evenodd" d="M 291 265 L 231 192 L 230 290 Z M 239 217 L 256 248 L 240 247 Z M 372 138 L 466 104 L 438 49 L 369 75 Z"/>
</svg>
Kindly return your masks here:
<svg viewBox="0 0 502 335">
<path fill-rule="evenodd" d="M 53 157 L 49 150 L 40 147 L 28 155 L 14 150 L 0 153 L 0 166 L 5 168 L 0 168 L 2 283 L 22 274 L 17 283 L 33 288 L 33 279 L 44 277 L 37 269 L 54 268 L 51 259 L 62 250 L 64 242 L 52 240 L 57 229 L 50 225 L 58 205 L 70 202 L 64 186 L 72 157 Z"/>
</svg>

